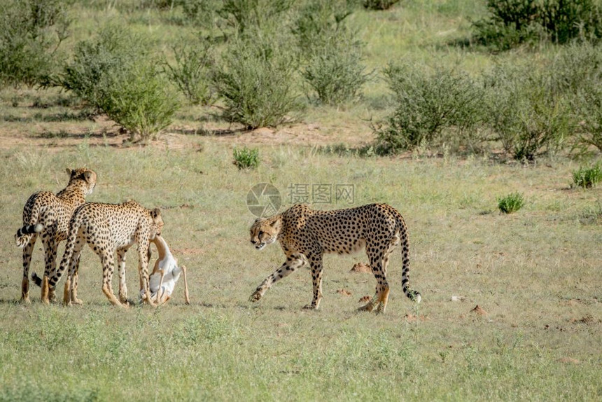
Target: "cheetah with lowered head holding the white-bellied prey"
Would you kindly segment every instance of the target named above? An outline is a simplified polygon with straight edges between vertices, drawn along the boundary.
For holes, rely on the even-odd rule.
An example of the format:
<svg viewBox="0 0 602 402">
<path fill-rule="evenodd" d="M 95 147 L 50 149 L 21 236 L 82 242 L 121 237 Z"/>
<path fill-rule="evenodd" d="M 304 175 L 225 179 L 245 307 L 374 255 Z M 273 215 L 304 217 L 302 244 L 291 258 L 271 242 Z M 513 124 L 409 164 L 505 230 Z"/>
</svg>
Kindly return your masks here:
<svg viewBox="0 0 602 402">
<path fill-rule="evenodd" d="M 151 300 L 148 286 L 148 245 L 155 235 L 160 235 L 163 219 L 158 208 L 146 209 L 138 202 L 130 200 L 123 204 L 101 204 L 89 202 L 81 205 L 73 212 L 69 222 L 69 235 L 65 252 L 59 268 L 42 284 L 43 302 L 48 303 L 51 293 L 61 278 L 64 270 L 69 268 L 64 286 L 63 302 L 66 305 L 81 304 L 77 298 L 77 284 L 71 278 L 77 274 L 77 261 L 81 249 L 87 243 L 100 257 L 102 263 L 102 291 L 109 301 L 116 306 L 127 306 L 127 286 L 125 284 L 125 253 L 132 244 L 138 243 L 138 270 L 141 288 L 146 295 L 146 303 L 155 305 Z M 119 274 L 119 300 L 113 293 L 111 279 L 115 268 L 113 252 L 117 251 Z"/>
</svg>

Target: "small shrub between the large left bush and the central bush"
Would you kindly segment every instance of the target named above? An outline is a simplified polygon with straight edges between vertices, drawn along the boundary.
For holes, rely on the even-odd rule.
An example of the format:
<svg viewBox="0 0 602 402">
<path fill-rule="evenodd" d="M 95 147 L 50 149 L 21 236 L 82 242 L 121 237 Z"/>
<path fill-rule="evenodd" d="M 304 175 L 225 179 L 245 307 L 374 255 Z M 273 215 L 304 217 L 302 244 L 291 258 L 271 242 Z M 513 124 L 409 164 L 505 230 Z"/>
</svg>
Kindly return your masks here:
<svg viewBox="0 0 602 402">
<path fill-rule="evenodd" d="M 211 66 L 213 55 L 208 42 L 188 43 L 174 47 L 176 63 L 172 66 L 164 62 L 169 80 L 192 104 L 208 105 L 214 101 L 211 88 Z"/>
</svg>

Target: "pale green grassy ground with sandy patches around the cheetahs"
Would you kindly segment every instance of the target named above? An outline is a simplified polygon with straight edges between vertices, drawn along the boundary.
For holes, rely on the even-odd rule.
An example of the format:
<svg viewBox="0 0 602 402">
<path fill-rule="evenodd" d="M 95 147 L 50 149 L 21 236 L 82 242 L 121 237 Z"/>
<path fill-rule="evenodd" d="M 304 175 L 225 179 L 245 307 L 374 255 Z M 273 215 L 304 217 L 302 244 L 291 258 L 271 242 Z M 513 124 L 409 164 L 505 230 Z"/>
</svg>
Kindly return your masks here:
<svg viewBox="0 0 602 402">
<path fill-rule="evenodd" d="M 80 6 L 66 45 L 90 36 L 106 16 L 147 32 L 160 48 L 184 29 L 156 11 L 124 15 L 113 3 Z M 468 1 L 415 1 L 352 18 L 373 52 L 370 68 L 407 57 L 479 69 L 495 57 L 447 43 L 483 12 Z M 524 166 L 486 155 L 323 151 L 372 141 L 369 120 L 390 107 L 388 97 L 386 84 L 374 81 L 358 104 L 310 105 L 300 123 L 255 132 L 230 132 L 237 127 L 188 107 L 141 147 L 127 146 L 111 121 L 78 116 L 65 106 L 67 94 L 1 90 L 0 401 L 600 400 L 602 188 L 573 188 L 581 162 L 561 156 Z M 258 169 L 232 164 L 242 145 L 259 149 Z M 33 303 L 19 303 L 22 251 L 13 236 L 22 207 L 37 190 L 62 189 L 64 169 L 81 166 L 98 174 L 87 200 L 132 198 L 162 209 L 163 235 L 188 267 L 191 305 L 181 281 L 167 305 L 111 307 L 100 262 L 87 248 L 84 305 L 41 305 L 33 286 Z M 386 314 L 356 311 L 375 284 L 370 274 L 349 272 L 367 262 L 363 254 L 325 256 L 318 311 L 301 308 L 311 300 L 306 270 L 248 303 L 283 262 L 277 245 L 256 251 L 249 243 L 255 216 L 246 196 L 262 182 L 280 190 L 283 208 L 298 195 L 291 188 L 321 183 L 351 184 L 353 200 L 316 208 L 386 202 L 398 209 L 410 235 L 410 283 L 423 303 L 403 296 L 399 251 L 389 264 Z M 500 214 L 498 198 L 516 192 L 524 207 Z M 135 300 L 135 246 L 128 255 Z M 32 270 L 43 271 L 41 242 Z M 484 314 L 471 311 L 477 305 Z"/>
</svg>

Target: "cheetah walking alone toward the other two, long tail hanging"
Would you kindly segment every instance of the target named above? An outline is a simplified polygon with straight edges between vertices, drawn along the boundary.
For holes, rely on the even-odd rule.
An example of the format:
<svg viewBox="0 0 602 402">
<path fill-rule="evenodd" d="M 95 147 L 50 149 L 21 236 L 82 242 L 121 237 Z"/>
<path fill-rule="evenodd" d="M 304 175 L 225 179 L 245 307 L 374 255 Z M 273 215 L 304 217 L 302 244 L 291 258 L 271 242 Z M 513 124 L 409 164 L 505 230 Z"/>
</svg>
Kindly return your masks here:
<svg viewBox="0 0 602 402">
<path fill-rule="evenodd" d="M 376 294 L 359 310 L 384 313 L 388 300 L 386 267 L 391 251 L 402 245 L 402 289 L 405 296 L 420 303 L 420 293 L 409 289 L 409 240 L 401 214 L 386 204 L 370 204 L 335 211 L 316 211 L 307 205 L 293 205 L 281 214 L 259 218 L 251 226 L 251 243 L 261 250 L 278 240 L 286 262 L 255 289 L 249 301 L 256 302 L 267 289 L 293 271 L 309 267 L 314 298 L 305 309 L 315 310 L 322 298 L 322 256 L 324 253 L 352 254 L 365 249 L 377 279 Z"/>
</svg>

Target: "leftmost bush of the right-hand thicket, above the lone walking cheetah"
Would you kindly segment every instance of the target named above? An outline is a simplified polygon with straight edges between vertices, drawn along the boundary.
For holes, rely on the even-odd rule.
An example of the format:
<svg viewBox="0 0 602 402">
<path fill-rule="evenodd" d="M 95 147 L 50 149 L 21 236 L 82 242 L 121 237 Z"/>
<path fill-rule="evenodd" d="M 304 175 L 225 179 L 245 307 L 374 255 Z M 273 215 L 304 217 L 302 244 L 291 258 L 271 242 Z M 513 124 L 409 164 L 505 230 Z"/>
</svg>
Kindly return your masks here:
<svg viewBox="0 0 602 402">
<path fill-rule="evenodd" d="M 432 146 L 443 130 L 462 134 L 482 120 L 482 87 L 460 71 L 389 65 L 384 74 L 395 95 L 395 111 L 384 127 L 374 126 L 376 151 L 397 153 Z"/>
</svg>

